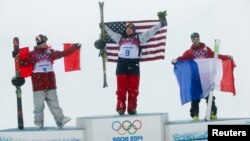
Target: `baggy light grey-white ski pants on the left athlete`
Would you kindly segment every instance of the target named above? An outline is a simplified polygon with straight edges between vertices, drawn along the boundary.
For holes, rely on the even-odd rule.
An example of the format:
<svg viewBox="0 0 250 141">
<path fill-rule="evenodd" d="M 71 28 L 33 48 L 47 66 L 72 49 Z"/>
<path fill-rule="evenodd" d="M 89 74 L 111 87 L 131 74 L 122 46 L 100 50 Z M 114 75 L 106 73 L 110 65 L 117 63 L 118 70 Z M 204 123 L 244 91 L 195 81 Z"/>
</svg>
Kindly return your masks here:
<svg viewBox="0 0 250 141">
<path fill-rule="evenodd" d="M 44 122 L 44 101 L 46 101 L 50 112 L 54 116 L 56 124 L 60 125 L 64 115 L 59 106 L 56 89 L 33 92 L 34 123 L 39 125 Z"/>
</svg>

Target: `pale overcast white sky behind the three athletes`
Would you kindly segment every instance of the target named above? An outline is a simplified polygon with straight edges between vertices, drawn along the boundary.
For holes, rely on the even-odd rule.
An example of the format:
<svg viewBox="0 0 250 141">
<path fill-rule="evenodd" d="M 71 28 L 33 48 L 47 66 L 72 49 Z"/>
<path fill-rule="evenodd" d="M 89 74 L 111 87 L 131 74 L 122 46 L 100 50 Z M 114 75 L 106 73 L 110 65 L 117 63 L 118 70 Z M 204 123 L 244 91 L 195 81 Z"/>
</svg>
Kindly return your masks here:
<svg viewBox="0 0 250 141">
<path fill-rule="evenodd" d="M 16 128 L 16 95 L 11 84 L 14 36 L 20 46 L 35 45 L 35 36 L 45 34 L 54 49 L 62 43 L 80 42 L 81 70 L 64 72 L 62 61 L 55 62 L 59 103 L 66 116 L 116 115 L 115 63 L 107 63 L 108 88 L 102 88 L 101 58 L 94 47 L 99 38 L 100 11 L 97 0 L 0 0 L 0 129 Z M 165 60 L 141 63 L 138 113 L 169 114 L 169 120 L 190 119 L 190 103 L 181 105 L 179 86 L 171 59 L 191 45 L 190 34 L 200 33 L 201 42 L 213 49 L 221 39 L 221 54 L 234 57 L 236 96 L 215 92 L 219 118 L 250 117 L 250 1 L 249 0 L 105 0 L 104 21 L 157 19 L 167 10 L 168 32 Z M 143 4 L 142 4 L 143 3 Z M 22 86 L 25 127 L 33 124 L 33 98 L 30 78 Z M 200 103 L 200 118 L 205 117 L 205 100 Z M 55 126 L 45 108 L 45 126 Z"/>
</svg>

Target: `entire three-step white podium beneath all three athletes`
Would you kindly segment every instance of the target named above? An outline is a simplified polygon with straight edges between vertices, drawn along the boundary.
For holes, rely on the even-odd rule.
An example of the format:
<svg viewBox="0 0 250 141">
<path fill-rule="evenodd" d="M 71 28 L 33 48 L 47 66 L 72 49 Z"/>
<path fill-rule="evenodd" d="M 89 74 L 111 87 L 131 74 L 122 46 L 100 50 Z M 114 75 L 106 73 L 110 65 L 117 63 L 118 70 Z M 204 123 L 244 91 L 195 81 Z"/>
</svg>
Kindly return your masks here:
<svg viewBox="0 0 250 141">
<path fill-rule="evenodd" d="M 207 141 L 209 125 L 250 125 L 250 118 L 169 121 L 167 113 L 76 118 L 76 127 L 0 130 L 0 141 Z"/>
</svg>

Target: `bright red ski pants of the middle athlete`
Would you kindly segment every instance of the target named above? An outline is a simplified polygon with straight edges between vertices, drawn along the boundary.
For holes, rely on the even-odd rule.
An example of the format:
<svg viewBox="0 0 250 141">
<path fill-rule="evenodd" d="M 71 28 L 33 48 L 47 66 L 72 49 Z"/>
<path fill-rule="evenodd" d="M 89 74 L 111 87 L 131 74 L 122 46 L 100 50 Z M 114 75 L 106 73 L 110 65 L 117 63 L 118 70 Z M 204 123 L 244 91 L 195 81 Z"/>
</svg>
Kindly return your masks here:
<svg viewBox="0 0 250 141">
<path fill-rule="evenodd" d="M 139 75 L 117 75 L 117 111 L 126 110 L 126 99 L 128 97 L 127 110 L 136 110 L 137 96 L 139 94 Z M 128 93 L 128 96 L 127 96 Z"/>
</svg>

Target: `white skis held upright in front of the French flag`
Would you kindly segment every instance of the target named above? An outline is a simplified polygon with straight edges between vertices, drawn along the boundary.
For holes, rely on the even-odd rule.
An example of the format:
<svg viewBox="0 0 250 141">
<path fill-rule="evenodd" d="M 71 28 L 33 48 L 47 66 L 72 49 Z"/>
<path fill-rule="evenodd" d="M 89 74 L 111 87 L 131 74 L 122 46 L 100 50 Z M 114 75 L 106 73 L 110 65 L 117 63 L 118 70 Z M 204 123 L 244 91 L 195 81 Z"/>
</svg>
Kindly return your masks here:
<svg viewBox="0 0 250 141">
<path fill-rule="evenodd" d="M 215 39 L 215 43 L 214 43 L 214 72 L 215 74 L 217 71 L 216 65 L 217 65 L 217 58 L 219 55 L 219 49 L 220 49 L 220 39 Z M 210 121 L 210 118 L 211 118 L 211 108 L 212 108 L 214 88 L 215 88 L 214 82 L 215 82 L 215 75 L 214 75 L 213 85 L 210 88 L 208 102 L 207 102 L 206 117 L 205 117 L 206 121 Z"/>
</svg>

